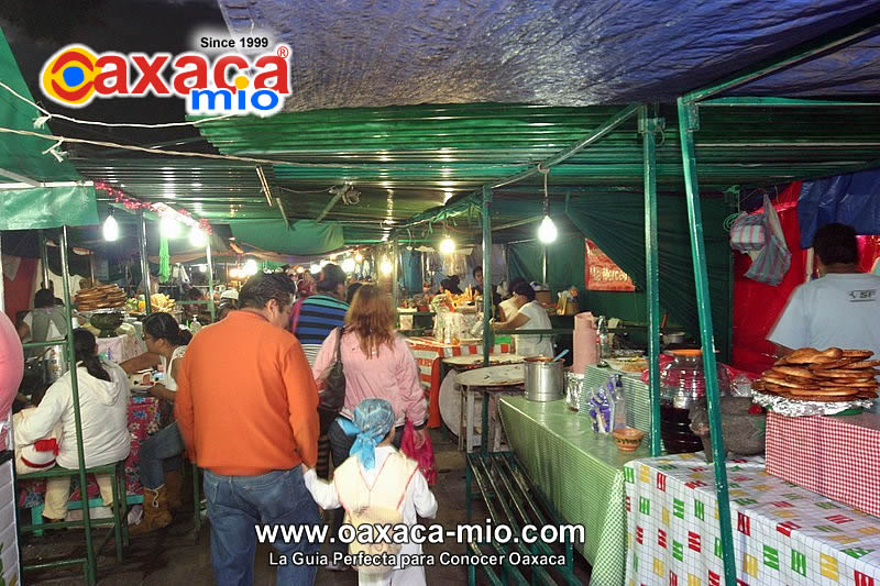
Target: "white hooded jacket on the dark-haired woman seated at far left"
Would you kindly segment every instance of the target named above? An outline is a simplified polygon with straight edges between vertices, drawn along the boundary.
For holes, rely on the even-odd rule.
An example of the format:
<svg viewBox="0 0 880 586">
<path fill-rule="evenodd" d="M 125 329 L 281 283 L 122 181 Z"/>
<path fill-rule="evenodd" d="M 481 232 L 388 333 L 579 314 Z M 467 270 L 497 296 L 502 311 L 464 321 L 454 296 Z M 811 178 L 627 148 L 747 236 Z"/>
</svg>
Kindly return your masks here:
<svg viewBox="0 0 880 586">
<path fill-rule="evenodd" d="M 86 467 L 125 460 L 131 443 L 128 429 L 129 376 L 117 364 L 101 362 L 101 365 L 110 380 L 91 376 L 85 366 L 77 368 Z M 76 468 L 79 464 L 69 372 L 46 390 L 40 407 L 28 419 L 14 425 L 15 445 L 32 444 L 45 438 L 58 422 L 64 431 L 56 463 L 64 468 Z"/>
</svg>

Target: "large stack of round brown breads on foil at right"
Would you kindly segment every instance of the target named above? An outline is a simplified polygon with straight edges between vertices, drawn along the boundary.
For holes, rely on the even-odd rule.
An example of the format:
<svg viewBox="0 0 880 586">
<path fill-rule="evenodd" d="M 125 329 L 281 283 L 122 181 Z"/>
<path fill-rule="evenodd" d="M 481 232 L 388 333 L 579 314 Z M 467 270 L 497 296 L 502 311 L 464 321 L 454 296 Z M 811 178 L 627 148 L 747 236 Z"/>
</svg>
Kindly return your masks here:
<svg viewBox="0 0 880 586">
<path fill-rule="evenodd" d="M 790 417 L 870 407 L 880 374 L 872 355 L 870 350 L 796 350 L 752 384 L 755 402 Z"/>
</svg>

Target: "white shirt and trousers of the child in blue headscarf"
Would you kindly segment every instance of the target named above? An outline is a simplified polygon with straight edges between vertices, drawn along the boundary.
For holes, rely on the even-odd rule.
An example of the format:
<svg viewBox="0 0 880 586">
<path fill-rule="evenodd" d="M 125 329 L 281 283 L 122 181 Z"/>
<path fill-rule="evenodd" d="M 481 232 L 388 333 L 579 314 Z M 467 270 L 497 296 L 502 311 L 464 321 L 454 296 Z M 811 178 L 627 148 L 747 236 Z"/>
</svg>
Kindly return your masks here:
<svg viewBox="0 0 880 586">
<path fill-rule="evenodd" d="M 383 469 L 385 460 L 395 453 L 397 453 L 397 450 L 395 450 L 394 446 L 381 445 L 376 447 L 375 465 L 371 469 L 365 469 L 363 465 L 358 462 L 358 467 L 363 475 L 363 479 L 369 486 L 372 487 L 375 485 L 376 478 Z M 306 487 L 309 489 L 309 493 L 311 493 L 312 498 L 315 498 L 315 501 L 321 508 L 337 509 L 342 506 L 334 485 L 318 479 L 318 475 L 314 469 L 308 471 L 304 475 L 304 480 L 306 483 Z M 400 491 L 404 491 L 403 486 L 400 487 Z M 406 495 L 404 496 L 402 507 L 404 523 L 410 527 L 418 522 L 418 518 L 416 517 L 417 515 L 429 519 L 432 519 L 437 515 L 437 499 L 435 498 L 430 488 L 428 488 L 428 482 L 425 479 L 425 476 L 418 471 L 416 471 L 416 473 L 409 478 L 409 484 L 406 486 Z M 400 555 L 418 555 L 420 553 L 420 543 L 405 543 L 400 549 Z M 398 568 L 391 574 L 397 575 L 382 577 L 361 574 L 360 583 L 393 585 L 406 584 L 407 586 L 410 584 L 414 586 L 417 586 L 418 584 L 425 584 L 425 568 L 422 567 L 400 568 L 398 566 Z"/>
</svg>

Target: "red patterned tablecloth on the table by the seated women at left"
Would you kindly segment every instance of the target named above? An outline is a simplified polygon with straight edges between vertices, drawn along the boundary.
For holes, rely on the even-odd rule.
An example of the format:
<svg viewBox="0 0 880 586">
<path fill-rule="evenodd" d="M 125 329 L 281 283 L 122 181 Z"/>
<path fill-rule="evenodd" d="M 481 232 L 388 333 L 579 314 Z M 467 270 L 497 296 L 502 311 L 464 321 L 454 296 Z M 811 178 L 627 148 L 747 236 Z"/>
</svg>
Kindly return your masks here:
<svg viewBox="0 0 880 586">
<path fill-rule="evenodd" d="M 129 402 L 129 432 L 131 433 L 131 452 L 125 460 L 125 487 L 129 495 L 142 495 L 141 471 L 138 454 L 141 444 L 158 431 L 158 399 L 155 397 L 132 397 Z M 45 480 L 25 480 L 19 477 L 19 507 L 32 508 L 43 504 L 46 491 Z M 96 498 L 100 491 L 94 477 L 89 477 L 89 498 Z M 79 488 L 74 489 L 70 500 L 79 500 Z"/>
</svg>

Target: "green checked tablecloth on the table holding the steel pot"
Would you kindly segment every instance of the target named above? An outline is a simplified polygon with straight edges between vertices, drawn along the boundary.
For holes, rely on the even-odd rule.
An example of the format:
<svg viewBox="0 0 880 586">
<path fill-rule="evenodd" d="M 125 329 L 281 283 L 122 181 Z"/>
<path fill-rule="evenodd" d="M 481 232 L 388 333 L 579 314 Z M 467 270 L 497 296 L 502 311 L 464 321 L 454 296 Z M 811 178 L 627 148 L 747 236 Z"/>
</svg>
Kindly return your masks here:
<svg viewBox="0 0 880 586">
<path fill-rule="evenodd" d="M 647 443 L 636 452 L 620 452 L 614 438 L 595 433 L 590 418 L 570 410 L 565 401 L 502 397 L 498 409 L 507 441 L 531 482 L 564 522 L 584 527 L 580 551 L 593 566 L 591 584 L 624 584 L 624 464 L 647 456 Z"/>
</svg>

